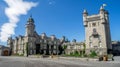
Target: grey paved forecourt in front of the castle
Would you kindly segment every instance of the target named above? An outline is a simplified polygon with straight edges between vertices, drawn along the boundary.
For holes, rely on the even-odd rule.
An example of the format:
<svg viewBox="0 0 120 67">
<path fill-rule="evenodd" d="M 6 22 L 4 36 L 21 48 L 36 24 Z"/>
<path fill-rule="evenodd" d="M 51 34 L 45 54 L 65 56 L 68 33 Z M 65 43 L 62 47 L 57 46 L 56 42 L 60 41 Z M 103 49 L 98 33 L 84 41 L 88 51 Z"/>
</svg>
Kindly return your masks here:
<svg viewBox="0 0 120 67">
<path fill-rule="evenodd" d="M 120 57 L 115 61 L 86 61 L 59 58 L 0 57 L 0 67 L 120 67 Z"/>
</svg>

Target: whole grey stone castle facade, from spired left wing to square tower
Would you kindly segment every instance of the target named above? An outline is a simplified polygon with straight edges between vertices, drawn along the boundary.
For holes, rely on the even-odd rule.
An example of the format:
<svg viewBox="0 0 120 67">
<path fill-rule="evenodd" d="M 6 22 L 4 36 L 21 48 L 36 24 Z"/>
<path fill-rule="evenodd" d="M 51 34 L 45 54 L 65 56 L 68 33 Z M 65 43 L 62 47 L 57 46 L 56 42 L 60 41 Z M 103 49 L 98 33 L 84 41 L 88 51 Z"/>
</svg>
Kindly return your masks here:
<svg viewBox="0 0 120 67">
<path fill-rule="evenodd" d="M 96 51 L 100 55 L 108 54 L 109 50 L 112 49 L 108 11 L 101 6 L 98 14 L 88 15 L 87 10 L 84 10 L 83 22 L 85 27 L 86 54 L 89 54 L 91 50 Z M 65 37 L 57 39 L 55 35 L 50 37 L 45 33 L 38 35 L 35 31 L 34 19 L 32 17 L 28 19 L 25 27 L 25 36 L 20 35 L 15 39 L 12 39 L 12 37 L 8 38 L 7 43 L 12 50 L 12 54 L 24 54 L 25 56 L 27 54 L 61 54 L 62 44 L 70 44 L 66 50 L 68 54 L 82 49 L 81 43 L 66 43 Z"/>
</svg>

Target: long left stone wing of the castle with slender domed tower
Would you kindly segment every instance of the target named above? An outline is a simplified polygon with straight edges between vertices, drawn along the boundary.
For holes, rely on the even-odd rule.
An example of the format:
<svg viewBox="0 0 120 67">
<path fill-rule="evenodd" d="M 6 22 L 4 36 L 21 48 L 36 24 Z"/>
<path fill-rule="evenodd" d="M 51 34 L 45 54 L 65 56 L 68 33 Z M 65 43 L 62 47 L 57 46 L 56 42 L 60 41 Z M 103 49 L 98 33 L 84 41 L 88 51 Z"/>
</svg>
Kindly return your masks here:
<svg viewBox="0 0 120 67">
<path fill-rule="evenodd" d="M 24 56 L 33 54 L 61 54 L 61 44 L 65 37 L 57 39 L 55 35 L 48 37 L 45 33 L 39 35 L 35 31 L 34 19 L 30 17 L 26 23 L 25 36 L 17 36 L 15 39 L 8 38 L 7 44 L 10 46 L 12 54 L 24 54 Z"/>
</svg>

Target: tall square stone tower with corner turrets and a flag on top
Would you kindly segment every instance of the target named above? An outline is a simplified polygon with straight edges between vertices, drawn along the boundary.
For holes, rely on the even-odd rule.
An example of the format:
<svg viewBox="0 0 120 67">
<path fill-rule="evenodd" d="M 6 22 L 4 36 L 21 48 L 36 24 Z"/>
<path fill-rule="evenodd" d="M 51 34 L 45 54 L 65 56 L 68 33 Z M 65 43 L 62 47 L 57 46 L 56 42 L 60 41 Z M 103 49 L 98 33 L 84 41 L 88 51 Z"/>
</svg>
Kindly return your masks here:
<svg viewBox="0 0 120 67">
<path fill-rule="evenodd" d="M 87 10 L 83 12 L 85 27 L 86 53 L 91 50 L 98 54 L 107 54 L 112 49 L 109 27 L 109 13 L 101 6 L 99 13 L 89 15 Z"/>
</svg>

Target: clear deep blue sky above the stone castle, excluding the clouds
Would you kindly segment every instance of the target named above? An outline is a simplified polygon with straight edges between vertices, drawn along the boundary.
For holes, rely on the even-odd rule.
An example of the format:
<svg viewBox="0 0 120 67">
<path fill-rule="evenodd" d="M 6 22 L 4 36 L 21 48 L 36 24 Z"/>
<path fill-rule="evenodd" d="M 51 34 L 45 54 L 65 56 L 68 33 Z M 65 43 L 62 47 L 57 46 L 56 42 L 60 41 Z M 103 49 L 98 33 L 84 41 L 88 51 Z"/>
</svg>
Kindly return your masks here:
<svg viewBox="0 0 120 67">
<path fill-rule="evenodd" d="M 120 40 L 120 0 L 24 0 L 38 3 L 31 8 L 26 15 L 20 15 L 20 21 L 15 28 L 15 35 L 25 35 L 25 24 L 32 14 L 35 20 L 38 34 L 45 32 L 47 36 L 56 35 L 61 38 L 63 35 L 69 40 L 77 39 L 84 41 L 84 26 L 82 20 L 83 9 L 87 9 L 89 15 L 99 13 L 102 4 L 109 11 L 110 29 L 112 40 Z M 0 27 L 8 21 L 5 15 L 5 8 L 8 5 L 0 0 Z M 19 10 L 19 8 L 18 8 Z M 0 44 L 2 43 L 0 41 Z"/>
</svg>

